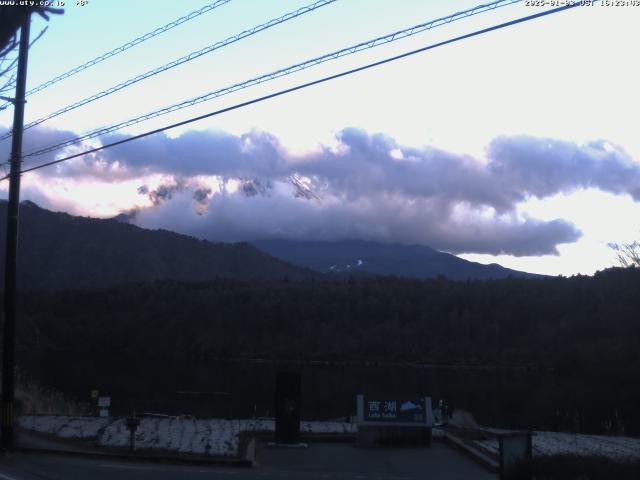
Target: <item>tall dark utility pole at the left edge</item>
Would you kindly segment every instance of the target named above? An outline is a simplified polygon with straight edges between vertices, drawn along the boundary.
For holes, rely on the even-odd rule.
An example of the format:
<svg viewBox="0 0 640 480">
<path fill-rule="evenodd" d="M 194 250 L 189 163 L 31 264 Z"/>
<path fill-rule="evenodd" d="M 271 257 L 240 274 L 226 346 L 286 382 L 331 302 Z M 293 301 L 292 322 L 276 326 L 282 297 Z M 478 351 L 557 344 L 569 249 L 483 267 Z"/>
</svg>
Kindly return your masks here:
<svg viewBox="0 0 640 480">
<path fill-rule="evenodd" d="M 12 448 L 13 400 L 15 396 L 15 325 L 16 270 L 18 253 L 18 213 L 20 210 L 20 168 L 22 164 L 22 132 L 24 126 L 27 57 L 31 14 L 25 15 L 20 27 L 18 76 L 13 109 L 11 143 L 11 172 L 9 174 L 9 203 L 7 205 L 7 243 L 4 264 L 4 335 L 2 338 L 2 447 Z"/>
</svg>

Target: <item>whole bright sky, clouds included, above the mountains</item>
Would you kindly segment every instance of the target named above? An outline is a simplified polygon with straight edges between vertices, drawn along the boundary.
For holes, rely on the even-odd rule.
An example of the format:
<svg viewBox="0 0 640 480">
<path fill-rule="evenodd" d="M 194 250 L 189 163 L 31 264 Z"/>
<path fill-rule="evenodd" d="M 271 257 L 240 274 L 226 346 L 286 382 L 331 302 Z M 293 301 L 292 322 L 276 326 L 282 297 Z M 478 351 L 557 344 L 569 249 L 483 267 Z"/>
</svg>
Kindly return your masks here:
<svg viewBox="0 0 640 480">
<path fill-rule="evenodd" d="M 208 4 L 66 1 L 27 89 Z M 28 99 L 30 122 L 313 2 L 232 0 Z M 337 0 L 25 132 L 24 152 L 478 1 Z M 548 2 L 551 3 L 551 2 Z M 606 3 L 606 2 L 605 2 Z M 22 199 L 213 241 L 429 245 L 549 275 L 640 238 L 640 6 L 581 6 L 27 173 Z M 519 2 L 38 157 L 125 139 L 548 7 Z M 0 134 L 12 111 L 0 112 Z M 9 155 L 0 142 L 0 159 Z M 6 197 L 7 183 L 0 184 Z"/>
</svg>

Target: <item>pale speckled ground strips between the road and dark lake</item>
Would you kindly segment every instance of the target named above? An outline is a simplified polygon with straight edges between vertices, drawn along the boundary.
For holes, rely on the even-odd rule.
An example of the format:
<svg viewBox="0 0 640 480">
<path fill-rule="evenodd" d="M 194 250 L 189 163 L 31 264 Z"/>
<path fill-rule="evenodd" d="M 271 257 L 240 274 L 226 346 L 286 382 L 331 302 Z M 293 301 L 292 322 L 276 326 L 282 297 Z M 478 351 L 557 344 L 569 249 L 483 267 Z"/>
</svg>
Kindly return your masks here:
<svg viewBox="0 0 640 480">
<path fill-rule="evenodd" d="M 455 414 L 454 414 L 455 416 Z M 472 418 L 460 418 L 465 424 Z M 129 446 L 129 431 L 124 418 L 97 418 L 54 415 L 21 416 L 20 428 L 64 439 L 93 440 L 103 447 Z M 242 432 L 275 431 L 275 421 L 269 419 L 185 419 L 177 417 L 143 417 L 136 431 L 139 449 L 169 450 L 211 456 L 237 456 Z M 357 425 L 338 421 L 300 422 L 302 433 L 355 434 Z M 496 432 L 497 433 L 497 432 Z M 434 437 L 442 435 L 433 430 Z M 498 440 L 475 440 L 486 451 L 498 454 Z M 640 439 L 605 435 L 584 435 L 561 432 L 534 432 L 533 454 L 604 456 L 613 460 L 640 460 Z"/>
</svg>

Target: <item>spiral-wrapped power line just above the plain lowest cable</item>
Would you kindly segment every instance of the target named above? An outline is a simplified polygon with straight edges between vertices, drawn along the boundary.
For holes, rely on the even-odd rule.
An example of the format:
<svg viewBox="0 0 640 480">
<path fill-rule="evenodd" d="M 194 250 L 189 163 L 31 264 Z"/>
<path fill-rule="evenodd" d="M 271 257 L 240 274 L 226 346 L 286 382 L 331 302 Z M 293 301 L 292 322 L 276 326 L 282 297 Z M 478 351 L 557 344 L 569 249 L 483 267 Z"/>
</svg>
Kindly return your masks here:
<svg viewBox="0 0 640 480">
<path fill-rule="evenodd" d="M 315 65 L 319 65 L 321 63 L 325 63 L 325 62 L 328 62 L 328 61 L 331 61 L 331 60 L 336 60 L 338 58 L 341 58 L 341 57 L 344 57 L 344 56 L 347 56 L 347 55 L 351 55 L 351 54 L 354 54 L 354 53 L 357 53 L 357 52 L 360 52 L 360 51 L 363 51 L 363 50 L 368 50 L 368 49 L 377 47 L 379 45 L 383 45 L 383 44 L 386 44 L 386 43 L 394 42 L 394 41 L 400 40 L 402 38 L 406 38 L 406 37 L 409 37 L 411 35 L 416 35 L 418 33 L 424 32 L 426 30 L 430 30 L 432 28 L 435 28 L 435 27 L 438 27 L 438 26 L 441 26 L 441 25 L 445 25 L 445 24 L 448 24 L 448 23 L 451 23 L 451 22 L 454 22 L 454 21 L 457 21 L 457 20 L 461 20 L 463 18 L 468 18 L 470 16 L 477 15 L 477 14 L 480 14 L 480 13 L 484 13 L 484 12 L 489 11 L 489 10 L 494 10 L 496 8 L 499 8 L 499 7 L 504 7 L 504 6 L 507 6 L 507 5 L 511 5 L 513 3 L 518 3 L 520 1 L 521 0 L 499 0 L 499 1 L 491 2 L 491 3 L 487 3 L 487 4 L 482 4 L 482 5 L 479 5 L 477 7 L 469 9 L 469 10 L 464 10 L 464 11 L 461 11 L 461 12 L 457 12 L 457 13 L 454 13 L 452 15 L 448 15 L 446 17 L 442 17 L 442 18 L 438 18 L 438 19 L 435 19 L 435 20 L 430 20 L 430 21 L 425 22 L 425 23 L 414 25 L 412 27 L 405 28 L 403 30 L 399 30 L 399 31 L 396 31 L 396 32 L 393 32 L 393 33 L 389 33 L 387 35 L 380 36 L 380 37 L 374 38 L 372 40 L 368 40 L 366 42 L 361 42 L 361 43 L 358 43 L 356 45 L 353 45 L 353 46 L 350 46 L 350 47 L 347 47 L 347 48 L 343 48 L 343 49 L 336 50 L 336 51 L 331 52 L 331 53 L 327 53 L 327 54 L 322 55 L 320 57 L 316 57 L 316 58 L 313 58 L 313 59 L 310 59 L 310 60 L 305 60 L 304 62 L 297 63 L 295 65 L 292 65 L 292 66 L 289 66 L 289 67 L 286 67 L 286 68 L 283 68 L 283 69 L 280 69 L 280 70 L 276 70 L 274 72 L 267 73 L 267 74 L 261 75 L 259 77 L 251 78 L 249 80 L 245 80 L 243 82 L 239 82 L 239 83 L 233 84 L 231 86 L 228 86 L 228 87 L 225 87 L 225 88 L 221 88 L 221 89 L 215 90 L 213 92 L 209 92 L 209 93 L 206 93 L 204 95 L 200 95 L 200 96 L 191 98 L 189 100 L 184 100 L 184 101 L 176 103 L 174 105 L 170 105 L 168 107 L 164 107 L 164 108 L 161 108 L 159 110 L 156 110 L 156 111 L 144 114 L 144 115 L 140 115 L 138 117 L 134 117 L 134 118 L 126 120 L 124 122 L 120 122 L 118 124 L 111 125 L 109 127 L 101 127 L 101 128 L 97 128 L 97 129 L 91 130 L 89 132 L 84 133 L 81 136 L 65 140 L 65 141 L 57 143 L 55 145 L 50 145 L 50 146 L 48 146 L 46 148 L 42 148 L 42 149 L 39 149 L 39 150 L 36 150 L 36 151 L 32 151 L 32 152 L 24 155 L 24 157 L 25 158 L 26 157 L 33 157 L 33 156 L 42 155 L 44 153 L 48 153 L 48 152 L 51 152 L 51 151 L 54 151 L 54 150 L 59 150 L 59 149 L 64 148 L 64 147 L 67 147 L 67 146 L 70 146 L 70 145 L 74 145 L 76 143 L 80 143 L 80 142 L 82 142 L 84 140 L 89 140 L 91 138 L 99 137 L 101 135 L 105 135 L 107 133 L 111 133 L 113 131 L 120 130 L 120 129 L 124 128 L 124 127 L 128 127 L 128 126 L 131 126 L 131 125 L 135 125 L 135 124 L 144 122 L 144 121 L 149 120 L 151 118 L 155 118 L 155 117 L 159 117 L 159 116 L 162 116 L 162 115 L 166 115 L 168 113 L 175 112 L 175 111 L 181 110 L 183 108 L 191 107 L 193 105 L 197 105 L 199 103 L 202 103 L 202 102 L 205 102 L 205 101 L 208 101 L 208 100 L 212 100 L 214 98 L 218 98 L 218 97 L 222 97 L 224 95 L 228 95 L 228 94 L 236 92 L 238 90 L 242 90 L 242 89 L 245 89 L 245 88 L 248 88 L 248 87 L 252 87 L 254 85 L 258 85 L 258 84 L 261 84 L 261 83 L 264 83 L 264 82 L 268 82 L 270 80 L 275 80 L 277 78 L 284 77 L 286 75 L 290 75 L 292 73 L 299 72 L 301 70 L 313 67 Z"/>
</svg>

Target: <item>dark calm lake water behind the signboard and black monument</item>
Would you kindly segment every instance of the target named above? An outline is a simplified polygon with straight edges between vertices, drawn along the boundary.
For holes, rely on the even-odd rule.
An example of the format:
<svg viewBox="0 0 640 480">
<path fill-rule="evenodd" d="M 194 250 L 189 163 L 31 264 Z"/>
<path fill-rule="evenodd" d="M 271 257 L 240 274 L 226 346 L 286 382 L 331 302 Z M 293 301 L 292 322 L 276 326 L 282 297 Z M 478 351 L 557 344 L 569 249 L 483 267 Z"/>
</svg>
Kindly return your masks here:
<svg viewBox="0 0 640 480">
<path fill-rule="evenodd" d="M 522 371 L 309 366 L 274 363 L 187 361 L 166 358 L 66 358 L 47 355 L 26 359 L 22 370 L 48 387 L 79 401 L 90 391 L 112 397 L 114 413 L 137 411 L 188 413 L 196 416 L 269 416 L 273 413 L 278 370 L 302 375 L 303 416 L 326 419 L 355 413 L 358 393 L 380 397 L 429 395 L 454 408 L 505 415 L 520 408 L 540 375 Z M 509 399 L 504 398 L 508 392 Z"/>
</svg>

